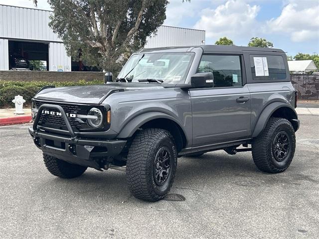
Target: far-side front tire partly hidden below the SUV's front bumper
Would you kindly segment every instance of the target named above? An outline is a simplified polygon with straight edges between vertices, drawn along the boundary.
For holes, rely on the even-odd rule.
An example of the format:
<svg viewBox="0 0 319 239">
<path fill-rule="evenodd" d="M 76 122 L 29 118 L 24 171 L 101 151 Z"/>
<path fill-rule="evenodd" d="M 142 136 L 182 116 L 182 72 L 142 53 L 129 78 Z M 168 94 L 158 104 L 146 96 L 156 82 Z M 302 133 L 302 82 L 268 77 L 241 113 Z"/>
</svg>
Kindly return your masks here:
<svg viewBox="0 0 319 239">
<path fill-rule="evenodd" d="M 43 154 L 43 161 L 47 170 L 54 176 L 60 178 L 79 177 L 87 169 L 87 167 L 71 164 L 47 154 Z"/>
</svg>

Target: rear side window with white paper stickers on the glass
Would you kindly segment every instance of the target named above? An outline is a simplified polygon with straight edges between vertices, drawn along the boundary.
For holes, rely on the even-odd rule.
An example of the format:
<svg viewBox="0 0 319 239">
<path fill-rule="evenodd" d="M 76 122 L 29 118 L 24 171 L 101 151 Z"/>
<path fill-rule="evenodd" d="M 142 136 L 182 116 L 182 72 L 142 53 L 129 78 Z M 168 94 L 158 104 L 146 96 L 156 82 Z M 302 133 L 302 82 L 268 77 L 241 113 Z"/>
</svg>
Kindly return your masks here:
<svg viewBox="0 0 319 239">
<path fill-rule="evenodd" d="M 250 55 L 253 80 L 285 80 L 284 58 L 274 55 Z"/>
</svg>

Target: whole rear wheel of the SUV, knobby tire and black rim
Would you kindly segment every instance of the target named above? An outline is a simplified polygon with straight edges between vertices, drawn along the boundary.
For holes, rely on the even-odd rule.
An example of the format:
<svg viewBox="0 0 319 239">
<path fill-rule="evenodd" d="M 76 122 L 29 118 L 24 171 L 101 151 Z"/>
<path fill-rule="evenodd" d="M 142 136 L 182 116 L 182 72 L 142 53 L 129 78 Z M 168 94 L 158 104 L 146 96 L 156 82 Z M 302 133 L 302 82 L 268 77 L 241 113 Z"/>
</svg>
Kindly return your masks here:
<svg viewBox="0 0 319 239">
<path fill-rule="evenodd" d="M 296 136 L 291 122 L 270 118 L 264 131 L 252 143 L 252 155 L 261 171 L 280 173 L 289 167 L 295 148 Z"/>
</svg>

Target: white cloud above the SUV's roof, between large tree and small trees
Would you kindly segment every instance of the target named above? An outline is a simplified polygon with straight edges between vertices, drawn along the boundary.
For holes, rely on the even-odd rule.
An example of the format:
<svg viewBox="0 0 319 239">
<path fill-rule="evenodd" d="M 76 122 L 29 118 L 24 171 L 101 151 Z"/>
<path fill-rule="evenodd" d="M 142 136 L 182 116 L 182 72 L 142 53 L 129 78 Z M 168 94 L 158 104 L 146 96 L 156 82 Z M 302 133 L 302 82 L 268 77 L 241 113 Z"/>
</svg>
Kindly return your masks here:
<svg viewBox="0 0 319 239">
<path fill-rule="evenodd" d="M 256 21 L 259 10 L 258 5 L 250 5 L 245 0 L 228 0 L 215 9 L 203 9 L 194 28 L 206 30 L 208 38 L 252 35 L 259 29 Z"/>
</svg>

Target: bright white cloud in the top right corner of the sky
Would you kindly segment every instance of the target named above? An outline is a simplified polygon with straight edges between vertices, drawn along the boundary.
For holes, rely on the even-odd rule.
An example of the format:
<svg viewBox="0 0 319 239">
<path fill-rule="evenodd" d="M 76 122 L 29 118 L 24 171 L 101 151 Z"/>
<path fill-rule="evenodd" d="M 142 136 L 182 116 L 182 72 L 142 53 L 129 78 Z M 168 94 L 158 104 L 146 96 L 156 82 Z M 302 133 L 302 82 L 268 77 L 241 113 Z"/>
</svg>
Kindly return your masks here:
<svg viewBox="0 0 319 239">
<path fill-rule="evenodd" d="M 288 33 L 294 42 L 319 39 L 318 1 L 290 0 L 280 16 L 267 21 L 265 31 Z"/>
</svg>

